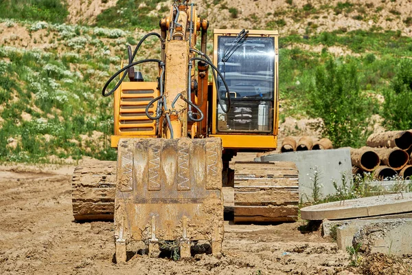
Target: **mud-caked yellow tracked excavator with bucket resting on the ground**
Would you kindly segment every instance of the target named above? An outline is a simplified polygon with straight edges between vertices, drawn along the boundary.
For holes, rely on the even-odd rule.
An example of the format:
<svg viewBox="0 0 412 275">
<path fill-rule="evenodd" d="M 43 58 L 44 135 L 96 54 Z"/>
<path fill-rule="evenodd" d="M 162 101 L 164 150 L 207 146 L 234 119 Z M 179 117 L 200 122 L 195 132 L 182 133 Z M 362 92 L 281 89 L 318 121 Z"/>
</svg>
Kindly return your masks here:
<svg viewBox="0 0 412 275">
<path fill-rule="evenodd" d="M 160 34 L 128 47 L 128 64 L 102 91 L 114 96 L 117 163 L 83 164 L 72 179 L 75 220 L 114 218 L 117 262 L 139 245 L 157 256 L 170 242 L 181 257 L 201 240 L 219 254 L 224 212 L 236 223 L 297 216 L 295 164 L 231 163 L 238 152 L 277 147 L 277 31 L 214 30 L 212 60 L 209 23 L 192 1 L 174 1 L 159 25 Z M 150 36 L 160 58 L 135 61 Z M 135 72 L 144 63 L 158 69 L 157 81 Z"/>
</svg>

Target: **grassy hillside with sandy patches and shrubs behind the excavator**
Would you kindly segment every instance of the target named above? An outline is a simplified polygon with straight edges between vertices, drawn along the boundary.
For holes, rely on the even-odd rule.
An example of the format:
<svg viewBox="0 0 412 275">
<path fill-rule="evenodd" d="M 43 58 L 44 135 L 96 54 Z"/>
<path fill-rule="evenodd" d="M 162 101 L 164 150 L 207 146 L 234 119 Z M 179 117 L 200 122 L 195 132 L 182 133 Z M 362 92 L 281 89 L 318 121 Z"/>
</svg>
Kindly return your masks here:
<svg viewBox="0 0 412 275">
<path fill-rule="evenodd" d="M 412 129 L 412 17 L 404 1 L 197 1 L 212 28 L 278 29 L 282 120 L 322 118 L 361 146 L 382 117 Z M 169 1 L 0 2 L 0 160 L 114 159 L 104 82 Z M 82 8 L 82 12 L 79 9 Z M 159 56 L 146 43 L 141 58 Z M 211 50 L 211 48 L 209 49 Z M 149 66 L 141 68 L 151 76 Z"/>
</svg>

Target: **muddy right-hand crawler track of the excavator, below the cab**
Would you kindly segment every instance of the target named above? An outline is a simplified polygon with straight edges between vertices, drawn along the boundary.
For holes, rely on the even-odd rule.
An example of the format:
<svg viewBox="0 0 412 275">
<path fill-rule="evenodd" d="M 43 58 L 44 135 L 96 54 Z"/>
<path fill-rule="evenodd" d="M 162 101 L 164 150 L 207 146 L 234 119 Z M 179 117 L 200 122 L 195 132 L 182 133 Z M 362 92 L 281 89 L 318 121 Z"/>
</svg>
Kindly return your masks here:
<svg viewBox="0 0 412 275">
<path fill-rule="evenodd" d="M 294 162 L 235 163 L 235 223 L 295 221 L 298 204 L 299 181 Z"/>
</svg>

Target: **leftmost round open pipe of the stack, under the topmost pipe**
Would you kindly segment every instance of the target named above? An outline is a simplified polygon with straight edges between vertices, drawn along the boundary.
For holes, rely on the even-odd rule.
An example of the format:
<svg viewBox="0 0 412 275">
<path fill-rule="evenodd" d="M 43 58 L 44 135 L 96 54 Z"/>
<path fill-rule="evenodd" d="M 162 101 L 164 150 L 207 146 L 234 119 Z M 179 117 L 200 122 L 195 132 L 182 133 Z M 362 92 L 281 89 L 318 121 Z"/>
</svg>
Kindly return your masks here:
<svg viewBox="0 0 412 275">
<path fill-rule="evenodd" d="M 352 165 L 361 168 L 366 172 L 373 171 L 380 164 L 380 158 L 378 153 L 374 151 L 374 148 L 362 147 L 358 149 L 350 148 L 350 158 Z"/>
</svg>

